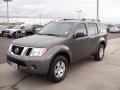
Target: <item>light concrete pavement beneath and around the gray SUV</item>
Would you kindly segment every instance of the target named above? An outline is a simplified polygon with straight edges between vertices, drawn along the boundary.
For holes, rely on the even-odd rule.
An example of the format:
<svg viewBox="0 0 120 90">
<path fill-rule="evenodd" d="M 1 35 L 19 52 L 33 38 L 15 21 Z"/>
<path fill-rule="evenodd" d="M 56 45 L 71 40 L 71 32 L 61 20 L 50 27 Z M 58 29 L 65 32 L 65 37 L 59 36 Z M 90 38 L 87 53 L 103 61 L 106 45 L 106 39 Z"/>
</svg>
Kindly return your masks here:
<svg viewBox="0 0 120 90">
<path fill-rule="evenodd" d="M 2 63 L 0 90 L 120 90 L 120 38 L 108 41 L 103 61 L 89 57 L 74 63 L 65 80 L 56 84 L 45 76 L 22 73 Z"/>
</svg>

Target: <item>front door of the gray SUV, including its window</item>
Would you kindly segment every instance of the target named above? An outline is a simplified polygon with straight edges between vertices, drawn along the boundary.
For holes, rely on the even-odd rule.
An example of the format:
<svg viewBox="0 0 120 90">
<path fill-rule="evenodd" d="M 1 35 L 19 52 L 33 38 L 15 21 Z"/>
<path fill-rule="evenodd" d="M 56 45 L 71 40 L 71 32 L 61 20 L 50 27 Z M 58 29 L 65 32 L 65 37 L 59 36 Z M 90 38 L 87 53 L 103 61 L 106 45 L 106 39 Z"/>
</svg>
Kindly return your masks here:
<svg viewBox="0 0 120 90">
<path fill-rule="evenodd" d="M 86 57 L 89 53 L 89 39 L 86 30 L 86 25 L 84 23 L 79 23 L 75 28 L 75 33 L 84 33 L 83 37 L 77 37 L 73 40 L 73 59 L 80 60 Z"/>
</svg>

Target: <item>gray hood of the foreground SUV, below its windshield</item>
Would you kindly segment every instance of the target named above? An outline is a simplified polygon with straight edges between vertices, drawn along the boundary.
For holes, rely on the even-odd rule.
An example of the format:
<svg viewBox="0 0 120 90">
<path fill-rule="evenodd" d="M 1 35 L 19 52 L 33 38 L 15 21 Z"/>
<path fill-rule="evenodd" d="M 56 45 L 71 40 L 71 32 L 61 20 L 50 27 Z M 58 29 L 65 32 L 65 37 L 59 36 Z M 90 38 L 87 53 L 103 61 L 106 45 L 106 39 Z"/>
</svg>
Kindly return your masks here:
<svg viewBox="0 0 120 90">
<path fill-rule="evenodd" d="M 65 40 L 64 37 L 56 37 L 56 36 L 48 36 L 48 35 L 32 35 L 32 36 L 16 39 L 12 43 L 18 46 L 49 48 L 64 40 Z"/>
</svg>

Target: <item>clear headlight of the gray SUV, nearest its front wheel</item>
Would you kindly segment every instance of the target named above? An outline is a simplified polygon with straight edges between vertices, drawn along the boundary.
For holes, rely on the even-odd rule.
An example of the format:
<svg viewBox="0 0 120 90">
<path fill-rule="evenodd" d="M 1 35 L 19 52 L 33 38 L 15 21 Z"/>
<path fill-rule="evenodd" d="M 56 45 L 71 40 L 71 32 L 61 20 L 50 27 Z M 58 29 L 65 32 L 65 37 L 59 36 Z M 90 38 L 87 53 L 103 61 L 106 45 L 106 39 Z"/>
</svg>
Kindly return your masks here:
<svg viewBox="0 0 120 90">
<path fill-rule="evenodd" d="M 42 56 L 47 52 L 47 48 L 33 48 L 30 56 Z"/>
</svg>

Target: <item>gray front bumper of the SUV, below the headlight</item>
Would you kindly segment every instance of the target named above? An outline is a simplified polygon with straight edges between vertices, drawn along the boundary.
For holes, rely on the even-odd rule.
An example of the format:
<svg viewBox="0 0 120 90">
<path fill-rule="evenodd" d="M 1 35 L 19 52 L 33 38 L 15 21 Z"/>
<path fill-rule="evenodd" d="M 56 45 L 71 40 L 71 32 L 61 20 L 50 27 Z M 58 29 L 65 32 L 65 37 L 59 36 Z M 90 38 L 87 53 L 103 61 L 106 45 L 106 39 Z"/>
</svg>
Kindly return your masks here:
<svg viewBox="0 0 120 90">
<path fill-rule="evenodd" d="M 47 74 L 51 63 L 50 58 L 40 57 L 20 57 L 13 56 L 10 53 L 7 55 L 7 62 L 15 63 L 18 66 L 18 70 L 25 71 L 34 74 Z"/>
</svg>

